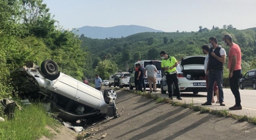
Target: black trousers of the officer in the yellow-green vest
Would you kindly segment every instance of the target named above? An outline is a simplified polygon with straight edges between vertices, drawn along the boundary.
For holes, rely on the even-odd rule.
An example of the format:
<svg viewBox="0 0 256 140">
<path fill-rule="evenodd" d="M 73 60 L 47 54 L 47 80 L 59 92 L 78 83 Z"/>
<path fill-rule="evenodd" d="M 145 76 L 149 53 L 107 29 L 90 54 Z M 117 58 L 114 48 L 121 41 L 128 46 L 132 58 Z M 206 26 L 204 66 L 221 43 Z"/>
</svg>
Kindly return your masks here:
<svg viewBox="0 0 256 140">
<path fill-rule="evenodd" d="M 172 97 L 172 95 L 173 95 L 173 93 L 172 93 L 172 91 L 173 91 L 172 82 L 174 82 L 176 96 L 178 98 L 180 98 L 180 87 L 179 87 L 179 84 L 178 84 L 178 76 L 177 76 L 176 73 L 166 75 L 166 83 L 168 85 L 169 98 Z"/>
</svg>

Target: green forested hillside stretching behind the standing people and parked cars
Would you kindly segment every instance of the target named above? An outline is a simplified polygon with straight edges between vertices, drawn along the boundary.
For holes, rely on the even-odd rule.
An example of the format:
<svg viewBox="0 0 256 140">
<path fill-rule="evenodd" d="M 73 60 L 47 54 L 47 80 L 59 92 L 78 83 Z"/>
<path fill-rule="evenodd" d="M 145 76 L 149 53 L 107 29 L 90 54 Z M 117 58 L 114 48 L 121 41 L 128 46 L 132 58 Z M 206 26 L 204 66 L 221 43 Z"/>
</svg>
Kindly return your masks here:
<svg viewBox="0 0 256 140">
<path fill-rule="evenodd" d="M 82 48 L 90 52 L 93 56 L 88 60 L 91 72 L 102 60 L 115 62 L 119 70 L 126 70 L 126 65 L 130 67 L 138 60 L 160 60 L 159 53 L 165 50 L 169 55 L 181 59 L 189 55 L 203 55 L 201 46 L 208 44 L 208 39 L 215 36 L 228 55 L 229 46 L 224 46 L 222 36 L 231 34 L 235 43 L 242 51 L 243 73 L 256 68 L 256 28 L 237 30 L 232 25 L 212 27 L 212 29 L 199 26 L 198 32 L 144 32 L 125 38 L 91 39 L 80 36 Z M 226 58 L 224 83 L 228 84 L 228 58 Z M 88 73 L 87 76 L 90 74 Z"/>
</svg>

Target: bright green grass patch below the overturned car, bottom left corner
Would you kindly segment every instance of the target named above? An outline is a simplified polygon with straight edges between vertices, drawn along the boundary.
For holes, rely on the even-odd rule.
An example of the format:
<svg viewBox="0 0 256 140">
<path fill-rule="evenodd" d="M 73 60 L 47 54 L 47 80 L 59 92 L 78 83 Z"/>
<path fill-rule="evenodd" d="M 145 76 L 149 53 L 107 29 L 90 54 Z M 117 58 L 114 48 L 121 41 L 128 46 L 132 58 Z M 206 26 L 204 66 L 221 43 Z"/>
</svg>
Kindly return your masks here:
<svg viewBox="0 0 256 140">
<path fill-rule="evenodd" d="M 36 140 L 41 136 L 53 136 L 46 126 L 55 129 L 60 124 L 46 113 L 43 104 L 33 103 L 22 108 L 24 110 L 15 110 L 12 120 L 3 117 L 5 121 L 0 122 L 0 140 Z"/>
</svg>

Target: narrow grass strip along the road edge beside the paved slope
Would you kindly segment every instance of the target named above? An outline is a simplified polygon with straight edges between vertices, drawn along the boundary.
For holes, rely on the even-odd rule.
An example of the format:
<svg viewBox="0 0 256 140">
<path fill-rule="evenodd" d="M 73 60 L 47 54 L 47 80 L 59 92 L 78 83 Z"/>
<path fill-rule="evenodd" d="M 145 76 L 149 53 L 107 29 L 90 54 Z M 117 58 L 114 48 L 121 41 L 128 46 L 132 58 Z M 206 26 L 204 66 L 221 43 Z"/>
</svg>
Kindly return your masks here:
<svg viewBox="0 0 256 140">
<path fill-rule="evenodd" d="M 249 122 L 252 123 L 254 125 L 256 125 L 256 117 L 248 117 L 248 116 L 238 116 L 238 115 L 234 115 L 234 114 L 230 114 L 227 110 L 212 110 L 210 108 L 206 108 L 206 107 L 202 107 L 202 106 L 194 106 L 193 101 L 190 104 L 186 104 L 182 103 L 182 102 L 177 102 L 177 101 L 173 101 L 167 98 L 161 98 L 159 95 L 152 95 L 152 94 L 148 94 L 146 92 L 138 92 L 135 90 L 129 90 L 132 93 L 135 94 L 139 94 L 141 96 L 144 96 L 146 98 L 149 99 L 153 99 L 156 100 L 157 103 L 167 103 L 167 104 L 171 104 L 172 106 L 182 106 L 184 108 L 190 108 L 192 110 L 194 110 L 195 112 L 200 112 L 200 113 L 210 113 L 212 115 L 217 115 L 217 116 L 221 116 L 221 117 L 225 117 L 225 118 L 234 118 L 236 120 L 238 120 L 238 122 Z"/>
</svg>

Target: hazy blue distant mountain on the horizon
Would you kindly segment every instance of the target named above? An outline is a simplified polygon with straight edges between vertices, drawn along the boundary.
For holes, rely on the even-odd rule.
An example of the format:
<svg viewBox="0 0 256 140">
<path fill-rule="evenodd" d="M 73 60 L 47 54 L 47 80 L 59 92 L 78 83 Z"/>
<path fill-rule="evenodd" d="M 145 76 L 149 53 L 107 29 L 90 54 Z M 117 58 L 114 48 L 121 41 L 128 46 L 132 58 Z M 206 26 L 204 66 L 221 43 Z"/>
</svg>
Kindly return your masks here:
<svg viewBox="0 0 256 140">
<path fill-rule="evenodd" d="M 98 27 L 98 26 L 83 26 L 81 28 L 77 28 L 79 30 L 76 32 L 79 36 L 84 34 L 84 36 L 89 38 L 121 38 L 130 36 L 132 34 L 137 34 L 141 32 L 163 32 L 161 30 L 155 30 L 152 28 L 138 26 L 138 25 L 119 25 L 114 27 Z M 74 32 L 76 31 L 74 30 Z"/>
</svg>

